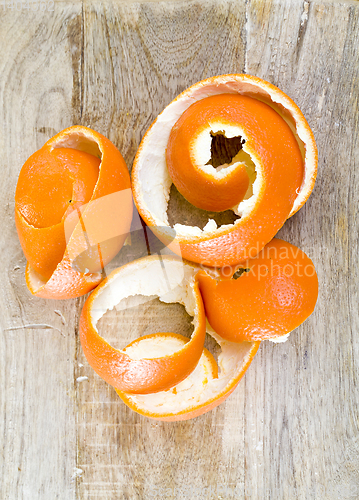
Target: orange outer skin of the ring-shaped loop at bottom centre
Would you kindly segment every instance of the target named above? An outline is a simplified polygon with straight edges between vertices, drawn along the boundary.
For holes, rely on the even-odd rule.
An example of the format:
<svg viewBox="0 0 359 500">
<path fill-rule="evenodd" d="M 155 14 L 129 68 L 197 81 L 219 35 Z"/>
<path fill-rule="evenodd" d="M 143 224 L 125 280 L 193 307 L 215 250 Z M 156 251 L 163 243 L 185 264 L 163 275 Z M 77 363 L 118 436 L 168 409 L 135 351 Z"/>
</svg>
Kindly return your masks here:
<svg viewBox="0 0 359 500">
<path fill-rule="evenodd" d="M 164 259 L 171 262 L 171 259 Z M 194 280 L 190 288 L 195 308 L 197 311 L 197 324 L 189 340 L 181 349 L 175 353 L 152 359 L 131 359 L 124 351 L 112 347 L 96 329 L 93 321 L 93 310 L 96 309 L 101 295 L 116 289 L 116 281 L 123 281 L 128 270 L 133 270 L 131 280 L 135 279 L 135 273 L 143 270 L 146 280 L 146 265 L 155 265 L 159 262 L 157 256 L 147 257 L 127 264 L 113 271 L 90 295 L 85 302 L 80 319 L 80 339 L 83 351 L 91 367 L 106 382 L 115 388 L 132 394 L 147 394 L 166 390 L 186 378 L 196 367 L 203 350 L 206 334 L 206 318 L 203 302 L 198 288 L 197 280 Z M 136 267 L 137 266 L 137 267 Z M 143 267 L 143 269 L 142 269 Z M 157 266 L 156 275 L 161 267 Z M 113 292 L 116 294 L 116 292 Z M 139 292 L 140 293 L 140 292 Z M 172 335 L 171 333 L 157 333 L 150 337 L 161 338 Z"/>
</svg>

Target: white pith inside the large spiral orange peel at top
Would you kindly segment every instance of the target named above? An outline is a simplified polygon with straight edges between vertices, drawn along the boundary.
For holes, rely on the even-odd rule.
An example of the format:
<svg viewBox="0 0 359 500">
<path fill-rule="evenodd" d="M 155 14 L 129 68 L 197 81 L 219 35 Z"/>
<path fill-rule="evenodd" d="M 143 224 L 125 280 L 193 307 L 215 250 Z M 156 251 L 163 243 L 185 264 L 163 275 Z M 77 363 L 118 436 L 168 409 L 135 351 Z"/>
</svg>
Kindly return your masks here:
<svg viewBox="0 0 359 500">
<path fill-rule="evenodd" d="M 303 120 L 305 122 L 305 119 L 299 108 L 284 93 L 272 89 L 269 84 L 262 80 L 253 82 L 253 79 L 247 78 L 246 75 L 218 76 L 215 79 L 200 82 L 190 87 L 177 99 L 172 101 L 158 116 L 142 141 L 136 158 L 136 196 L 140 206 L 155 225 L 169 225 L 167 207 L 172 180 L 166 166 L 166 147 L 173 125 L 191 104 L 206 97 L 223 93 L 248 95 L 265 102 L 275 109 L 293 131 L 303 154 L 305 171 L 302 187 L 290 215 L 297 211 L 310 193 L 313 187 L 311 179 L 315 177 L 316 172 L 316 146 L 308 130 L 302 123 Z M 226 124 L 219 122 L 215 126 L 217 130 L 223 130 Z M 216 130 L 212 131 L 216 132 Z M 230 131 L 228 132 L 231 133 Z M 226 137 L 234 136 L 225 135 Z M 239 135 L 245 139 L 245 134 Z M 208 157 L 210 157 L 209 138 L 210 135 L 207 134 L 207 137 L 201 138 L 201 142 L 198 144 L 198 157 L 201 162 L 205 158 L 208 161 Z M 251 210 L 256 205 L 262 185 L 259 158 L 255 157 L 254 152 L 250 151 L 246 147 L 246 144 L 244 144 L 243 150 L 251 156 L 252 161 L 256 165 L 257 176 L 252 186 L 253 195 L 244 199 L 237 207 L 233 207 L 233 211 L 242 218 L 250 216 Z M 224 234 L 228 228 L 234 229 L 236 224 L 240 223 L 240 219 L 233 224 L 227 224 L 220 228 L 217 228 L 214 221 L 210 220 L 209 222 L 210 224 L 206 225 L 203 230 L 197 226 L 183 224 L 176 224 L 174 229 L 177 235 L 183 238 L 193 239 L 205 235 L 217 237 Z"/>
</svg>

